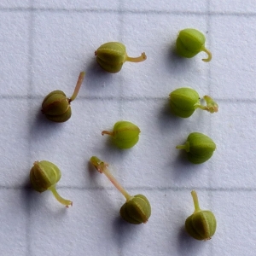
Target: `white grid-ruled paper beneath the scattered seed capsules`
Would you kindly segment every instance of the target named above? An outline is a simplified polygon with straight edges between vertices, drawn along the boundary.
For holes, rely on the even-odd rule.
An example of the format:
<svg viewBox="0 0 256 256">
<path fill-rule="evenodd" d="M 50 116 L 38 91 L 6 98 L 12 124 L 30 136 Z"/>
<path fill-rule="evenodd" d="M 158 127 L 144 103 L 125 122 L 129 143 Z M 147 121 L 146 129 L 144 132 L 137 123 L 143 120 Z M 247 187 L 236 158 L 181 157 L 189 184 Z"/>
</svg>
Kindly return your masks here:
<svg viewBox="0 0 256 256">
<path fill-rule="evenodd" d="M 255 1 L 72 2 L 0 3 L 1 255 L 255 255 Z M 201 61 L 204 53 L 187 60 L 172 52 L 186 27 L 206 34 L 211 62 Z M 94 51 L 108 41 L 148 59 L 105 73 Z M 81 71 L 72 118 L 49 122 L 40 113 L 44 96 L 57 89 L 71 96 Z M 174 118 L 168 95 L 183 86 L 212 96 L 219 112 Z M 101 135 L 121 119 L 142 131 L 125 151 Z M 175 148 L 192 131 L 217 144 L 199 166 Z M 124 197 L 90 166 L 91 155 L 108 162 L 132 195 L 148 197 L 148 224 L 119 218 Z M 60 167 L 57 188 L 73 207 L 30 188 L 35 160 Z M 192 189 L 218 220 L 211 241 L 183 230 Z"/>
</svg>

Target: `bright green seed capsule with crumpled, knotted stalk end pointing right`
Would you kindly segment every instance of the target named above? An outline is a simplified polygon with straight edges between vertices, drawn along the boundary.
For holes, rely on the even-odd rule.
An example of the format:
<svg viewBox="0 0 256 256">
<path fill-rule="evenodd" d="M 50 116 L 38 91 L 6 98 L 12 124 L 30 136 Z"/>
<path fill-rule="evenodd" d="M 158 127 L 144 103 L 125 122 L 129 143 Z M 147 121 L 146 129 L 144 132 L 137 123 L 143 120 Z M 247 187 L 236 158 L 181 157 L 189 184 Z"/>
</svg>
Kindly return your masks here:
<svg viewBox="0 0 256 256">
<path fill-rule="evenodd" d="M 210 113 L 218 112 L 218 104 L 210 96 L 203 97 L 207 102 L 207 106 L 203 106 L 199 94 L 191 88 L 182 87 L 173 90 L 169 97 L 172 113 L 182 118 L 191 116 L 196 108 L 207 110 Z"/>
</svg>

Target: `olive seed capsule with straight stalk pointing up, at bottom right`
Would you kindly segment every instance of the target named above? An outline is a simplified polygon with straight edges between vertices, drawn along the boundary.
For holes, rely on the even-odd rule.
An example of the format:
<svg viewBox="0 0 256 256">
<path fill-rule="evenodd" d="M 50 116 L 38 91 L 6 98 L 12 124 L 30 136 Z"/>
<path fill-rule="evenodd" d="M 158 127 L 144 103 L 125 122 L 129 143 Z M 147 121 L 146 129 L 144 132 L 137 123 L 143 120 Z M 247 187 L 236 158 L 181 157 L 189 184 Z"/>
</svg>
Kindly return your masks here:
<svg viewBox="0 0 256 256">
<path fill-rule="evenodd" d="M 191 195 L 195 211 L 186 219 L 185 229 L 190 236 L 197 240 L 209 240 L 216 231 L 216 218 L 212 212 L 201 210 L 195 190 L 192 190 Z"/>
</svg>

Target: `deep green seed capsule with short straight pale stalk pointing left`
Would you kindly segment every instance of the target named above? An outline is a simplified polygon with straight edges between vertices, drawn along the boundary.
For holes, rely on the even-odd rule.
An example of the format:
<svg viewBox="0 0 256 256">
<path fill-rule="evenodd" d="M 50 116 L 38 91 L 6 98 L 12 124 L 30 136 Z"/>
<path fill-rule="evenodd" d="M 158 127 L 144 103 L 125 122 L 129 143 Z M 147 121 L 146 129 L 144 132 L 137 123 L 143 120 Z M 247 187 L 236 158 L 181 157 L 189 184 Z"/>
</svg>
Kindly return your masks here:
<svg viewBox="0 0 256 256">
<path fill-rule="evenodd" d="M 192 132 L 183 145 L 177 145 L 177 149 L 185 149 L 188 159 L 193 164 L 201 164 L 212 157 L 216 144 L 210 137 L 200 133 Z"/>
</svg>

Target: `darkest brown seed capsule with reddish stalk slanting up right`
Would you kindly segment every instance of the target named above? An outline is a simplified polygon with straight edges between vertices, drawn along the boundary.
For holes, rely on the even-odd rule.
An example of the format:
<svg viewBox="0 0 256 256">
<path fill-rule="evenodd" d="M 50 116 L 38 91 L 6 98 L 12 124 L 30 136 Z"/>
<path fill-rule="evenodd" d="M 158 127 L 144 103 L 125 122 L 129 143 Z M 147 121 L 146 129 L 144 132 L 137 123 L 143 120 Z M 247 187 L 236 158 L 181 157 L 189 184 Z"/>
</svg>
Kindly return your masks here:
<svg viewBox="0 0 256 256">
<path fill-rule="evenodd" d="M 45 114 L 46 118 L 62 123 L 66 122 L 71 117 L 70 102 L 76 98 L 79 93 L 79 89 L 84 80 L 84 72 L 81 72 L 73 96 L 67 98 L 66 94 L 62 90 L 54 90 L 44 98 L 42 103 L 42 113 Z"/>
</svg>

